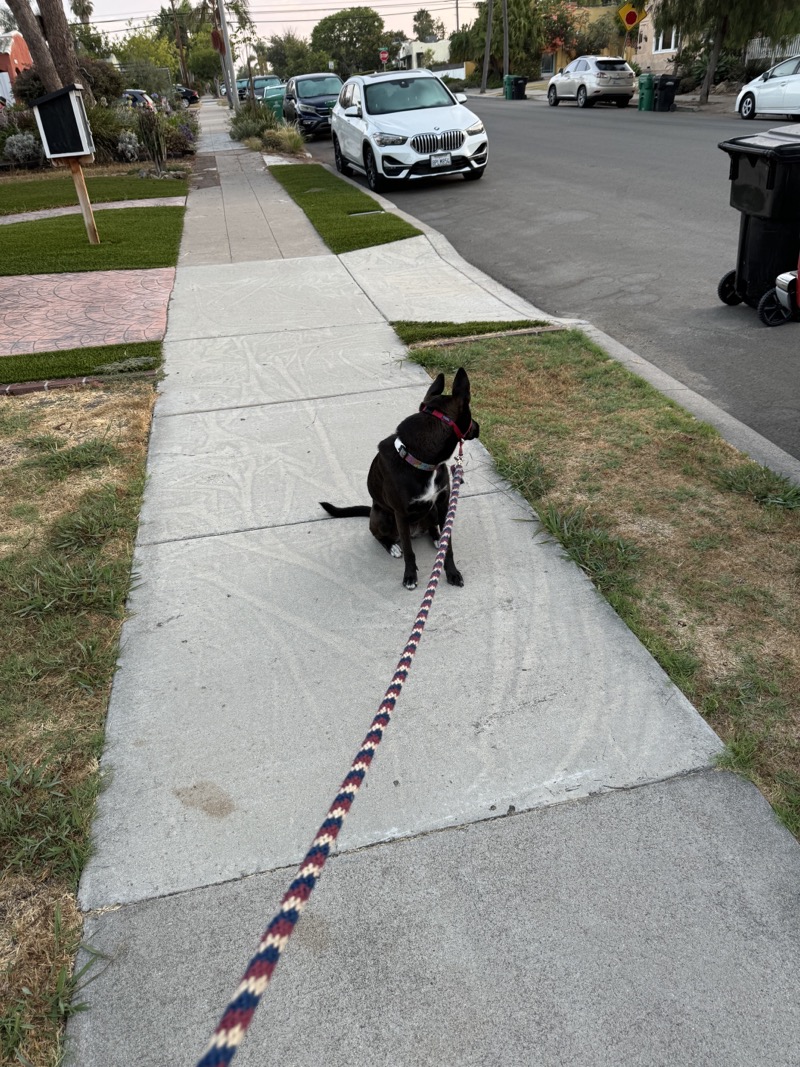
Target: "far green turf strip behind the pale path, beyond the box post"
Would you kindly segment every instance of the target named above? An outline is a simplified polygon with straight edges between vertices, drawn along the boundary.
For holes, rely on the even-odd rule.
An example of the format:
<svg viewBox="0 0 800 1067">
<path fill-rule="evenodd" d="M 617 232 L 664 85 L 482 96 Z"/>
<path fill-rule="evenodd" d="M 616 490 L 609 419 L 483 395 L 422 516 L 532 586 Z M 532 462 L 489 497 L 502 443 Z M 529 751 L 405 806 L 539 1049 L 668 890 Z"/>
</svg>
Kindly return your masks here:
<svg viewBox="0 0 800 1067">
<path fill-rule="evenodd" d="M 182 179 L 167 181 L 161 178 L 119 175 L 86 178 L 86 189 L 93 204 L 111 204 L 124 200 L 186 196 L 188 184 Z M 48 180 L 0 182 L 0 214 L 44 211 L 50 207 L 71 205 L 78 206 L 78 196 L 75 192 L 75 182 L 68 175 Z"/>
</svg>

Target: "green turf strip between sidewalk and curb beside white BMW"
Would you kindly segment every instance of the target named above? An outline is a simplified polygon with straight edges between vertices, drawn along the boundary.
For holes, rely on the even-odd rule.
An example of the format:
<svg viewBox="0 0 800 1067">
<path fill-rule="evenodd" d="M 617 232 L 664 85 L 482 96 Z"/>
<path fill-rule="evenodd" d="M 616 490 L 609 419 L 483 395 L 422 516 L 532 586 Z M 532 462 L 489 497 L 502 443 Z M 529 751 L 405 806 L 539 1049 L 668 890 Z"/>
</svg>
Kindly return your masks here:
<svg viewBox="0 0 800 1067">
<path fill-rule="evenodd" d="M 336 255 L 402 241 L 420 234 L 404 219 L 384 211 L 367 193 L 342 181 L 319 163 L 303 166 L 284 163 L 271 166 L 270 173 L 305 211 L 311 225 Z"/>
</svg>

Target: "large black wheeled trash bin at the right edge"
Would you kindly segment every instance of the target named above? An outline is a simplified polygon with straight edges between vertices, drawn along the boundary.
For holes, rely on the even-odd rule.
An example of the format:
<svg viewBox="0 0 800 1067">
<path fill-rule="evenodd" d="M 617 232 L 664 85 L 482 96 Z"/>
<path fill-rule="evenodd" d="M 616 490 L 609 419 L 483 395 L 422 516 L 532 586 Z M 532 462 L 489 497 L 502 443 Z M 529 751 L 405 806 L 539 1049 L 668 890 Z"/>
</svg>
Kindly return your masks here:
<svg viewBox="0 0 800 1067">
<path fill-rule="evenodd" d="M 723 304 L 751 307 L 800 254 L 800 125 L 722 141 L 731 157 L 731 206 L 741 212 L 736 270 L 717 292 Z"/>
</svg>

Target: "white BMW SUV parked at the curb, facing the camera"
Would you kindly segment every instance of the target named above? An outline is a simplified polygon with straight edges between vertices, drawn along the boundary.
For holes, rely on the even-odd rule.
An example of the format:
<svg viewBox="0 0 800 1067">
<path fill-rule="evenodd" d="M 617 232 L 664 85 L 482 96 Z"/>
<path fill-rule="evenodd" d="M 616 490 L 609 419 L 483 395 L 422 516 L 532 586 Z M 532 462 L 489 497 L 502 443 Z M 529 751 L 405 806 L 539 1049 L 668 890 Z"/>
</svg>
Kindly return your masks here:
<svg viewBox="0 0 800 1067">
<path fill-rule="evenodd" d="M 373 192 L 389 180 L 462 174 L 483 177 L 483 123 L 430 70 L 356 75 L 345 82 L 331 130 L 336 169 L 366 175 Z"/>
</svg>

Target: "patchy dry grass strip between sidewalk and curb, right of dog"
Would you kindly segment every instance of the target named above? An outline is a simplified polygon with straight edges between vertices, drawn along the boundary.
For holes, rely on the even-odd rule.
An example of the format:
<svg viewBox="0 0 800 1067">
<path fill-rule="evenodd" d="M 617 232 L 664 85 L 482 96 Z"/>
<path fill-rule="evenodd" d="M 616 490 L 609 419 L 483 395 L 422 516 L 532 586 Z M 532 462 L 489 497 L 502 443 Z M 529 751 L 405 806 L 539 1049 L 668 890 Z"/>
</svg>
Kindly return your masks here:
<svg viewBox="0 0 800 1067">
<path fill-rule="evenodd" d="M 722 737 L 721 765 L 800 837 L 800 488 L 577 331 L 412 354 L 469 371 L 500 474 Z"/>
</svg>

